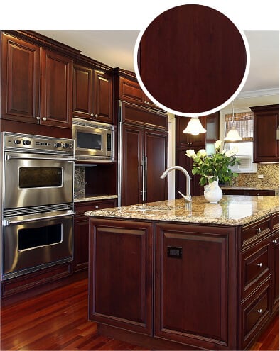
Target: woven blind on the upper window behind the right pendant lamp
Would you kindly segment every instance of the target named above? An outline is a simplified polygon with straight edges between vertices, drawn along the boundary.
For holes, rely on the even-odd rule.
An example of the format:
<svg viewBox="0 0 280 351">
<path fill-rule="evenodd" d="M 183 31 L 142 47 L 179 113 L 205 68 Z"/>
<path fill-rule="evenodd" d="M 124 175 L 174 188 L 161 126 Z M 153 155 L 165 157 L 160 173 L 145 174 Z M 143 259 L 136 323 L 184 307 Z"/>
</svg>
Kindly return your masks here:
<svg viewBox="0 0 280 351">
<path fill-rule="evenodd" d="M 239 143 L 242 143 L 244 141 L 253 141 L 252 112 L 235 113 L 233 119 L 232 113 L 227 113 L 225 115 L 225 135 L 227 135 L 227 132 L 230 130 L 230 128 L 232 128 L 232 123 L 242 138 Z"/>
</svg>

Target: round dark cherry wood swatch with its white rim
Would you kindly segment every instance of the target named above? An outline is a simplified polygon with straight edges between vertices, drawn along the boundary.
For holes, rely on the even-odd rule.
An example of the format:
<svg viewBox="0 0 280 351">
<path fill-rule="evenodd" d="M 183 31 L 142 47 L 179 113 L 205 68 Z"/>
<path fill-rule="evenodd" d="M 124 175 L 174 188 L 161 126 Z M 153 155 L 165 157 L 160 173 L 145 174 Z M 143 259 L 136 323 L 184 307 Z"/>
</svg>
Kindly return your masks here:
<svg viewBox="0 0 280 351">
<path fill-rule="evenodd" d="M 219 11 L 176 6 L 140 33 L 134 50 L 136 76 L 146 94 L 167 111 L 212 113 L 230 104 L 246 81 L 245 41 L 244 33 Z"/>
</svg>

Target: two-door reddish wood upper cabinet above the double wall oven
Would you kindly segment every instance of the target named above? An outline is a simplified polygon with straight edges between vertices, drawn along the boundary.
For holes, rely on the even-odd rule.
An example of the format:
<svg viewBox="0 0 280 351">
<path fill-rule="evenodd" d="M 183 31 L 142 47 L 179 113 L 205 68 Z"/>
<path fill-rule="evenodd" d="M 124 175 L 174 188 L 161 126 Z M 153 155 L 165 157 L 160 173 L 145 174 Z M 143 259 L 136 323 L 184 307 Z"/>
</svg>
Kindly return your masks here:
<svg viewBox="0 0 280 351">
<path fill-rule="evenodd" d="M 1 118 L 70 128 L 72 59 L 2 33 Z"/>
</svg>

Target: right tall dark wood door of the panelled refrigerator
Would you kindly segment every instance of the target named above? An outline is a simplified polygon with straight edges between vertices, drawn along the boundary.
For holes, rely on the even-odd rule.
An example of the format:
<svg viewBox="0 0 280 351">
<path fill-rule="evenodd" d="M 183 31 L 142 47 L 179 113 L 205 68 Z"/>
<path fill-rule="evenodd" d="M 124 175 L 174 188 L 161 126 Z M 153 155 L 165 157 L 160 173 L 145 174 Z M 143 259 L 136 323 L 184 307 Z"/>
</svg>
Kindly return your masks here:
<svg viewBox="0 0 280 351">
<path fill-rule="evenodd" d="M 167 199 L 167 177 L 161 174 L 167 168 L 168 132 L 144 130 L 145 202 Z"/>
</svg>

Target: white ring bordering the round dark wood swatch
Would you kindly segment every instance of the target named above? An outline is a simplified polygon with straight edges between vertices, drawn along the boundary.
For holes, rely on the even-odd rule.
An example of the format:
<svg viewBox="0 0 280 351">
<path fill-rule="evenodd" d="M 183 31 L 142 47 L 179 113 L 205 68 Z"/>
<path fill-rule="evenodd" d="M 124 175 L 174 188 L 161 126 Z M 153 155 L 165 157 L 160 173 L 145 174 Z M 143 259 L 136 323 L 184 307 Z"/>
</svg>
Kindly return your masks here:
<svg viewBox="0 0 280 351">
<path fill-rule="evenodd" d="M 190 5 L 190 4 L 185 4 L 185 5 Z M 215 9 L 212 6 L 208 6 L 205 4 L 195 4 L 195 5 L 200 5 L 200 6 L 206 6 L 206 7 L 210 7 L 210 9 L 214 9 L 220 13 L 222 13 L 222 11 Z M 175 7 L 179 7 L 179 6 L 184 6 L 184 4 L 178 5 L 178 6 L 173 6 L 170 9 L 174 9 Z M 164 13 L 170 9 L 167 9 L 161 13 Z M 158 15 L 151 21 L 153 22 L 158 16 L 161 15 L 161 13 L 158 13 Z M 141 86 L 141 89 L 144 91 L 144 93 L 146 94 L 146 96 L 148 96 L 148 98 L 154 102 L 154 104 L 156 104 L 158 107 L 162 108 L 163 110 L 169 112 L 169 113 L 173 113 L 174 115 L 178 115 L 178 116 L 183 116 L 183 117 L 200 117 L 200 116 L 205 116 L 205 115 L 210 115 L 211 113 L 215 113 L 217 111 L 222 110 L 222 108 L 224 108 L 225 106 L 229 105 L 232 101 L 235 100 L 235 98 L 237 97 L 237 95 L 239 94 L 239 92 L 242 90 L 242 88 L 244 87 L 245 82 L 247 81 L 247 77 L 249 74 L 249 69 L 250 69 L 250 62 L 251 62 L 251 55 L 250 55 L 250 50 L 249 50 L 249 43 L 248 40 L 246 38 L 246 35 L 244 34 L 243 30 L 241 30 L 240 28 L 238 28 L 238 26 L 228 17 L 225 15 L 225 13 L 222 13 L 222 15 L 224 15 L 225 17 L 227 17 L 233 24 L 234 26 L 237 28 L 237 30 L 239 31 L 240 35 L 242 36 L 242 39 L 244 41 L 244 45 L 245 45 L 245 50 L 246 50 L 246 68 L 245 68 L 245 72 L 244 72 L 244 76 L 243 79 L 241 81 L 241 83 L 239 84 L 239 87 L 237 88 L 237 90 L 235 91 L 234 94 L 232 94 L 232 96 L 230 96 L 229 99 L 227 99 L 227 101 L 225 101 L 223 104 L 212 108 L 212 110 L 208 110 L 208 111 L 203 111 L 203 112 L 199 112 L 199 113 L 183 113 L 181 111 L 175 111 L 172 108 L 168 108 L 167 106 L 164 106 L 163 104 L 159 103 L 158 101 L 156 101 L 156 99 L 154 99 L 154 96 L 151 96 L 151 94 L 149 93 L 149 91 L 146 89 L 144 83 L 142 82 L 142 79 L 140 77 L 140 73 L 139 73 L 139 69 L 138 69 L 138 49 L 139 49 L 139 45 L 140 45 L 140 41 L 141 38 L 146 30 L 146 28 L 149 27 L 149 25 L 151 24 L 151 22 L 146 26 L 146 28 L 142 29 L 136 39 L 135 45 L 134 45 L 134 69 L 135 69 L 135 74 L 136 74 L 136 78 Z"/>
</svg>

